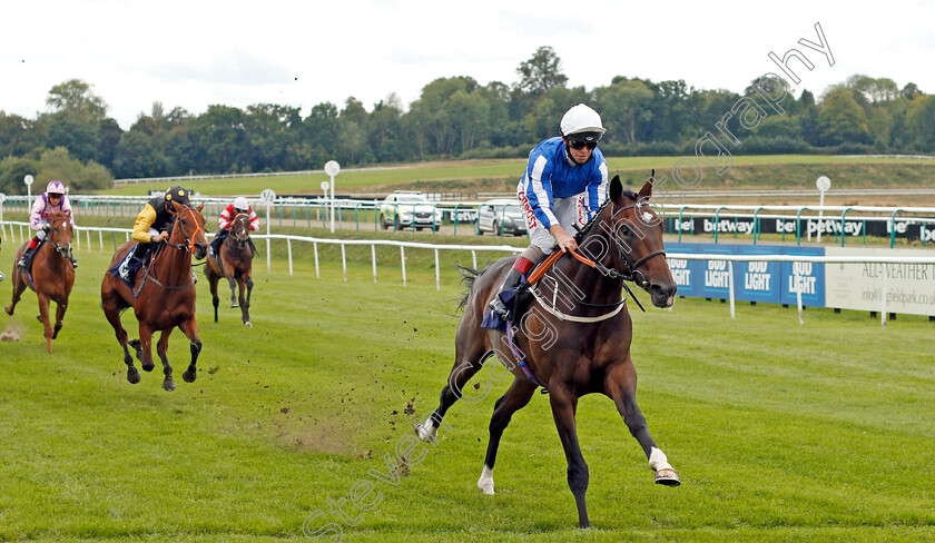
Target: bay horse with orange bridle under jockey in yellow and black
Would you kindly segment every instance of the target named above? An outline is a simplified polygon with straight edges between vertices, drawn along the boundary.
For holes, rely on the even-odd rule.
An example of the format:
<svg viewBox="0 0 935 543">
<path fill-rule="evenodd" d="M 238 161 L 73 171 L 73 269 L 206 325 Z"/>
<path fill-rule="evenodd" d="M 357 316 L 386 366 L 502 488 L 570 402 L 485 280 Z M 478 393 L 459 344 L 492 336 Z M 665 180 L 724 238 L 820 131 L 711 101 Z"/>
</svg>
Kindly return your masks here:
<svg viewBox="0 0 935 543">
<path fill-rule="evenodd" d="M 151 372 L 152 334 L 160 332 L 156 353 L 163 359 L 165 379 L 163 388 L 175 389 L 173 367 L 166 356 L 169 335 L 178 328 L 188 336 L 190 343 L 191 362 L 183 374 L 186 383 L 194 383 L 197 377 L 196 362 L 201 351 L 201 339 L 198 337 L 198 324 L 195 320 L 195 276 L 191 274 L 191 256 L 205 258 L 208 243 L 205 238 L 205 217 L 201 215 L 204 204 L 197 208 L 185 206 L 173 223 L 168 240 L 155 247 L 155 256 L 150 264 L 139 269 L 136 284 L 130 289 L 127 284 L 110 273 L 104 274 L 100 286 L 100 300 L 104 314 L 117 340 L 124 347 L 124 363 L 127 364 L 127 381 L 139 383 L 139 372 L 134 367 L 134 358 L 127 345 L 136 349 L 136 356 L 142 369 Z M 134 250 L 137 241 L 128 241 L 117 249 L 110 267 L 122 259 L 129 250 Z M 128 307 L 139 322 L 139 339 L 127 340 L 127 330 L 120 322 L 120 314 Z"/>
</svg>

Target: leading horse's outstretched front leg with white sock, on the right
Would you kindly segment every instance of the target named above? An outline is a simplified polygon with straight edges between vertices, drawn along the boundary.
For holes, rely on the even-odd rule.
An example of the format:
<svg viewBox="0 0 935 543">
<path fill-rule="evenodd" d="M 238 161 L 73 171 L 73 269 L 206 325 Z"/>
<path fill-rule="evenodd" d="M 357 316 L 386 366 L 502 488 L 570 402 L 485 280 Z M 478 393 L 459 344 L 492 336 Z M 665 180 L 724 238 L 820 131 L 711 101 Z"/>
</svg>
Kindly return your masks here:
<svg viewBox="0 0 935 543">
<path fill-rule="evenodd" d="M 630 428 L 630 434 L 640 443 L 643 453 L 649 458 L 649 467 L 656 472 L 656 483 L 666 486 L 680 485 L 681 480 L 669 464 L 666 453 L 656 446 L 656 441 L 649 435 L 646 417 L 637 404 L 637 368 L 633 367 L 629 356 L 608 372 L 604 394 L 613 399 L 617 411 Z"/>
</svg>

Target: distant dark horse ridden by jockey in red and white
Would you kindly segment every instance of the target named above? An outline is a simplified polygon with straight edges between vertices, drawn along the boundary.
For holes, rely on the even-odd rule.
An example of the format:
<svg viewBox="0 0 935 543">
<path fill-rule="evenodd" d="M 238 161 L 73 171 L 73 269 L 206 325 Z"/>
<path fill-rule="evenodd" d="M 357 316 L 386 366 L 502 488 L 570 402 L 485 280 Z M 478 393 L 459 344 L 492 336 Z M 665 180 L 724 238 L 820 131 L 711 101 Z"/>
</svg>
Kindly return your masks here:
<svg viewBox="0 0 935 543">
<path fill-rule="evenodd" d="M 237 214 L 230 225 L 230 234 L 224 240 L 218 250 L 220 261 L 214 255 L 208 256 L 208 265 L 205 266 L 205 275 L 211 287 L 211 302 L 215 306 L 215 323 L 217 323 L 217 283 L 222 277 L 230 285 L 230 307 L 240 307 L 240 319 L 244 326 L 250 327 L 250 293 L 253 292 L 253 244 L 250 244 L 250 217 L 247 214 Z M 239 295 L 235 295 L 234 288 L 239 287 Z M 244 298 L 244 287 L 247 288 L 247 297 Z M 235 297 L 236 296 L 236 297 Z"/>
</svg>

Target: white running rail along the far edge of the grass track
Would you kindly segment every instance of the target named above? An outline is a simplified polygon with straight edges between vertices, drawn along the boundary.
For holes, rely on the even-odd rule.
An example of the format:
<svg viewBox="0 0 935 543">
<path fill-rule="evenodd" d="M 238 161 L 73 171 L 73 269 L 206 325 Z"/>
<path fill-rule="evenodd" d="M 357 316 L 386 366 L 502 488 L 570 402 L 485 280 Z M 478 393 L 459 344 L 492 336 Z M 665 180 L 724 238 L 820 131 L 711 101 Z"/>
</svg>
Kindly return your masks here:
<svg viewBox="0 0 935 543">
<path fill-rule="evenodd" d="M 9 237 L 8 233 L 9 231 Z M 76 228 L 75 234 L 75 248 L 76 250 L 85 250 L 91 251 L 92 250 L 92 236 L 91 233 L 97 233 L 97 241 L 99 244 L 100 250 L 105 251 L 105 233 L 109 233 L 112 237 L 112 244 L 116 247 L 118 237 L 122 237 L 124 240 L 130 239 L 130 233 L 132 230 L 126 228 L 98 228 L 98 227 L 78 227 Z M 7 238 L 8 240 L 12 240 L 16 243 L 17 236 L 19 234 L 19 243 L 22 243 L 27 239 L 27 236 L 31 236 L 31 230 L 27 223 L 18 223 L 18 221 L 0 221 L 0 236 Z M 83 234 L 83 243 L 81 241 Z M 118 236 L 122 235 L 122 236 Z M 372 268 L 373 268 L 373 282 L 376 283 L 377 280 L 377 260 L 376 260 L 376 247 L 377 246 L 394 246 L 400 247 L 400 260 L 401 260 L 401 268 L 402 268 L 402 277 L 403 277 L 403 286 L 406 286 L 406 255 L 405 249 L 412 248 L 416 250 L 432 250 L 434 251 L 435 256 L 435 288 L 441 289 L 441 276 L 440 276 L 440 259 L 439 259 L 439 251 L 440 250 L 461 250 L 461 251 L 470 251 L 472 256 L 473 266 L 478 267 L 478 253 L 479 251 L 493 251 L 493 253 L 521 253 L 523 250 L 522 247 L 512 247 L 512 246 L 478 246 L 478 245 L 437 245 L 437 244 L 421 244 L 421 243 L 412 243 L 412 241 L 395 241 L 395 240 L 386 240 L 386 239 L 329 239 L 329 238 L 314 238 L 314 237 L 305 237 L 305 236 L 285 236 L 285 235 L 255 235 L 253 236 L 256 239 L 266 239 L 266 270 L 267 273 L 270 270 L 270 243 L 274 239 L 282 239 L 286 241 L 287 246 L 287 259 L 288 259 L 288 269 L 289 275 L 293 275 L 293 241 L 301 243 L 301 244 L 312 244 L 312 250 L 314 253 L 314 260 L 315 260 L 315 277 L 321 277 L 321 268 L 318 265 L 318 244 L 325 245 L 338 245 L 341 246 L 341 265 L 343 270 L 344 280 L 347 282 L 347 258 L 346 258 L 346 250 L 347 246 L 370 246 L 371 247 L 371 260 L 372 260 Z M 122 243 L 120 244 L 122 245 Z M 717 254 L 669 254 L 667 258 L 670 259 L 685 259 L 685 260 L 724 260 L 728 263 L 729 267 L 729 300 L 730 300 L 730 316 L 731 318 L 736 318 L 736 310 L 735 310 L 735 285 L 734 285 L 734 263 L 735 261 L 788 261 L 788 263 L 819 263 L 819 264 L 923 264 L 923 265 L 935 265 L 935 257 L 873 257 L 873 256 L 807 256 L 807 255 L 717 255 Z M 880 326 L 886 327 L 886 315 L 887 315 L 887 287 L 886 287 L 886 274 L 882 276 L 882 284 L 880 284 Z M 803 304 L 801 304 L 801 294 L 798 293 L 798 318 L 799 324 L 803 324 Z"/>
</svg>

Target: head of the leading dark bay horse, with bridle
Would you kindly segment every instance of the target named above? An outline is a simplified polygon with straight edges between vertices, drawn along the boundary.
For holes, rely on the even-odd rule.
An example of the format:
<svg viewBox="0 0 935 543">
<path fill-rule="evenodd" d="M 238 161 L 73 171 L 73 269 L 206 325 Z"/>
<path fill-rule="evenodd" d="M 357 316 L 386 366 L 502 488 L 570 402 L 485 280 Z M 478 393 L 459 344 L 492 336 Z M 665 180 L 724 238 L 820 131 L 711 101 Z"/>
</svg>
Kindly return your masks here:
<svg viewBox="0 0 935 543">
<path fill-rule="evenodd" d="M 662 244 L 662 219 L 649 205 L 652 179 L 639 194 L 624 190 L 619 176 L 610 182 L 610 205 L 602 211 L 601 228 L 610 238 L 613 267 L 623 270 L 652 296 L 656 307 L 671 307 L 676 285 Z"/>
</svg>

